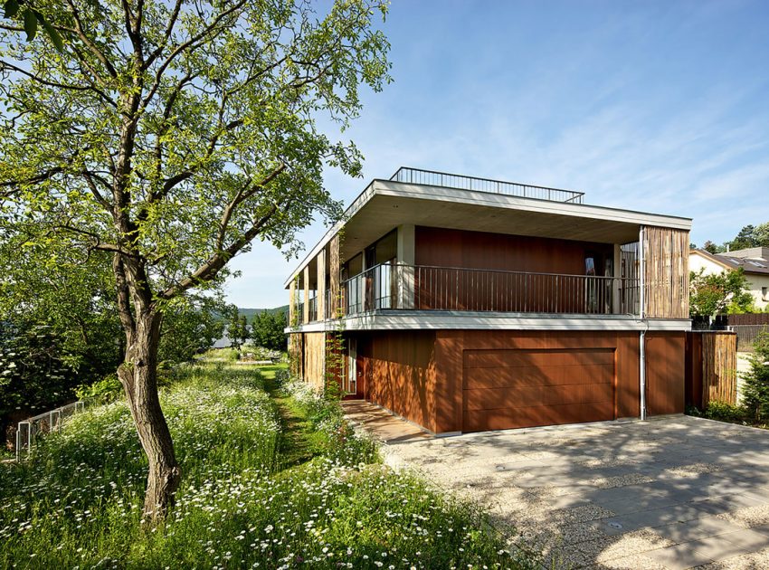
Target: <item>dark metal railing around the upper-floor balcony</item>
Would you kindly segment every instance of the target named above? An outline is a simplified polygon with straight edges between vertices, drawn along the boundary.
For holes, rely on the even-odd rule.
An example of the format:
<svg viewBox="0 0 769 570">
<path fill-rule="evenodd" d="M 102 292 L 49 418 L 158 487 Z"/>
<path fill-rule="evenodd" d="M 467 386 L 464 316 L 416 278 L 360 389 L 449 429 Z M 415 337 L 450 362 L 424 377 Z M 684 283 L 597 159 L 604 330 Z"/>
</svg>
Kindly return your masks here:
<svg viewBox="0 0 769 570">
<path fill-rule="evenodd" d="M 385 263 L 342 285 L 345 313 L 413 309 L 624 315 L 638 312 L 638 280 L 591 275 Z"/>
</svg>

